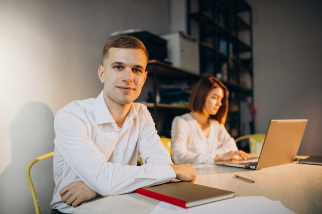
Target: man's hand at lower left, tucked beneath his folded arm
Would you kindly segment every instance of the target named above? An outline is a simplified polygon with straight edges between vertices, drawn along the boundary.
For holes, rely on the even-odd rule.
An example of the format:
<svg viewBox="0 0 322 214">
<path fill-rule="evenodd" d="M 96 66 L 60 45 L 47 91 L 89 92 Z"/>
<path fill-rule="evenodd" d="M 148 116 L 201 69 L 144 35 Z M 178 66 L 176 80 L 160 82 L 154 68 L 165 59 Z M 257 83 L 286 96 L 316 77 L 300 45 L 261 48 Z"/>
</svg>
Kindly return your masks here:
<svg viewBox="0 0 322 214">
<path fill-rule="evenodd" d="M 96 199 L 100 196 L 82 181 L 68 184 L 62 188 L 59 193 L 62 197 L 62 202 L 73 207 L 76 207 L 83 202 Z"/>
</svg>

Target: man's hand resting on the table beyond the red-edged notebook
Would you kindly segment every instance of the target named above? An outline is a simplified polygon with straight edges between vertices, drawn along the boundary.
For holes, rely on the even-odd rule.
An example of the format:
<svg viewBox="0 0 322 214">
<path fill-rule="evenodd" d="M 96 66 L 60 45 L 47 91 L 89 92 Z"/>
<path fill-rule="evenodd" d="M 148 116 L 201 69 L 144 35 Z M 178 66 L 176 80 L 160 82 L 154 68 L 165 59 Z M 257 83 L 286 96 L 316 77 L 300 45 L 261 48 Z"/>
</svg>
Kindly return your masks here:
<svg viewBox="0 0 322 214">
<path fill-rule="evenodd" d="M 173 168 L 177 180 L 194 182 L 197 177 L 195 168 L 191 164 L 170 164 L 170 166 Z"/>
</svg>

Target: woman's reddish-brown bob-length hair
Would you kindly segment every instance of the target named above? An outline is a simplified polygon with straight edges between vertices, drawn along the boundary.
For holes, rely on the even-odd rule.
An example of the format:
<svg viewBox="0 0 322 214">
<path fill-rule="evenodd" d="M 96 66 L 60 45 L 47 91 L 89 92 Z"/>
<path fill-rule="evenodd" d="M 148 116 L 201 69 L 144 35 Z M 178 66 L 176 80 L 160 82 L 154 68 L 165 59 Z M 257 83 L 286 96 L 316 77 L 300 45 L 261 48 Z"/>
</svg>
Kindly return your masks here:
<svg viewBox="0 0 322 214">
<path fill-rule="evenodd" d="M 222 106 L 218 110 L 217 114 L 210 115 L 210 118 L 217 120 L 220 124 L 225 124 L 228 113 L 229 92 L 226 86 L 216 77 L 204 75 L 202 79 L 194 85 L 190 97 L 189 108 L 191 111 L 203 113 L 205 109 L 206 98 L 209 92 L 212 89 L 218 87 L 220 87 L 224 91 Z"/>
</svg>

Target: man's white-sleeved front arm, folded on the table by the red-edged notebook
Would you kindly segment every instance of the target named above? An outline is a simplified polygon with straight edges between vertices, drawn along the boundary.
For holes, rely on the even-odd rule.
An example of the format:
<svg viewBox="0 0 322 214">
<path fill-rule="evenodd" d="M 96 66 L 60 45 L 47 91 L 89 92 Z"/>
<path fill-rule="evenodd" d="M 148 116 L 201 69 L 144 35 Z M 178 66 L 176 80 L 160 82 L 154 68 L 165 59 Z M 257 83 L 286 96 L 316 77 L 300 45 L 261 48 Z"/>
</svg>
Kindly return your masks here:
<svg viewBox="0 0 322 214">
<path fill-rule="evenodd" d="M 131 192 L 176 177 L 169 163 L 122 166 L 108 162 L 88 137 L 89 128 L 73 113 L 59 112 L 55 118 L 55 144 L 77 176 L 101 196 Z M 105 153 L 111 154 L 109 149 L 114 148 L 106 146 Z"/>
</svg>

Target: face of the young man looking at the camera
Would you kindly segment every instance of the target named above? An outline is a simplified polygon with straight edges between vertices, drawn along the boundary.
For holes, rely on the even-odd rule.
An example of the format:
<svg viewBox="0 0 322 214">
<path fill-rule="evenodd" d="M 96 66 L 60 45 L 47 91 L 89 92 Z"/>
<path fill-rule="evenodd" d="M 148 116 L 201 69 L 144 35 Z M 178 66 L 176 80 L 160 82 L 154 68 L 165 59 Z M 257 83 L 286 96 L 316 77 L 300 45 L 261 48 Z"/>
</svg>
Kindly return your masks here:
<svg viewBox="0 0 322 214">
<path fill-rule="evenodd" d="M 147 56 L 141 49 L 111 48 L 98 68 L 106 104 L 131 104 L 141 93 L 147 74 Z"/>
</svg>

